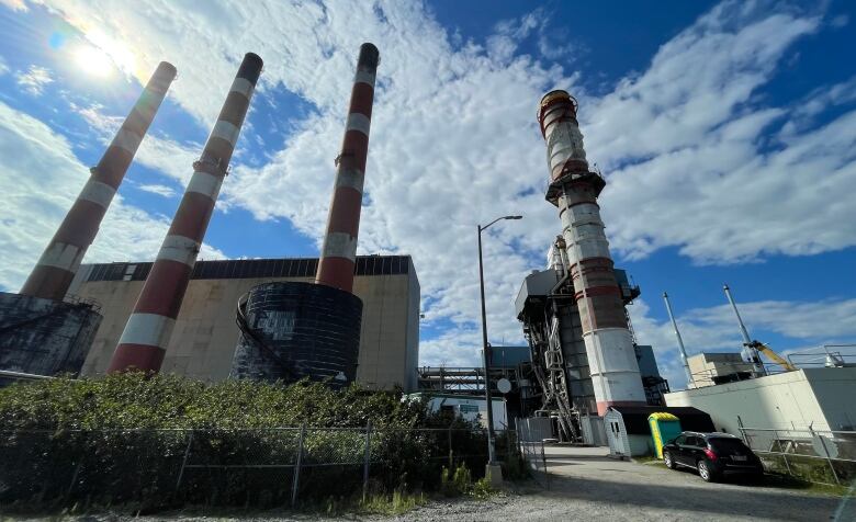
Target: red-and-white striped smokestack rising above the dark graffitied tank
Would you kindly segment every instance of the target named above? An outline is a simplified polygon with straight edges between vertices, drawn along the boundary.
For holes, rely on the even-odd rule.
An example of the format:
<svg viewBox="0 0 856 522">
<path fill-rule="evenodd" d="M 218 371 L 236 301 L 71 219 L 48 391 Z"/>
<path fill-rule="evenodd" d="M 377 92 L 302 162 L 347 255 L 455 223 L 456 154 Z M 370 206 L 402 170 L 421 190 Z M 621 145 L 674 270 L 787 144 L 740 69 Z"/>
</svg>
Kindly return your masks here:
<svg viewBox="0 0 856 522">
<path fill-rule="evenodd" d="M 327 219 L 327 234 L 318 260 L 315 282 L 351 292 L 357 259 L 357 235 L 369 155 L 369 128 L 374 102 L 374 76 L 380 53 L 372 44 L 360 46 L 357 73 L 353 77 L 351 103 L 341 152 L 337 158 L 336 186 Z"/>
</svg>

